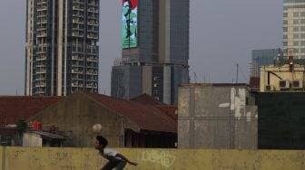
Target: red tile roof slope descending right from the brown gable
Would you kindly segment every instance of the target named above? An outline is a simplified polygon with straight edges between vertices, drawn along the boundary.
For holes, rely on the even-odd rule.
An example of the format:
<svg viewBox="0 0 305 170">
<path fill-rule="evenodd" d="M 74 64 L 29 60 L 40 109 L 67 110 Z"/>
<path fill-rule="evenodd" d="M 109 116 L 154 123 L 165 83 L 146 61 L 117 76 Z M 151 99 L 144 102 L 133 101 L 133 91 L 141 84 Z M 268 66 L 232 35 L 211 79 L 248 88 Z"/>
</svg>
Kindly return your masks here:
<svg viewBox="0 0 305 170">
<path fill-rule="evenodd" d="M 100 102 L 104 107 L 129 118 L 144 130 L 177 133 L 177 121 L 154 105 L 100 94 L 86 93 L 86 95 Z"/>
</svg>

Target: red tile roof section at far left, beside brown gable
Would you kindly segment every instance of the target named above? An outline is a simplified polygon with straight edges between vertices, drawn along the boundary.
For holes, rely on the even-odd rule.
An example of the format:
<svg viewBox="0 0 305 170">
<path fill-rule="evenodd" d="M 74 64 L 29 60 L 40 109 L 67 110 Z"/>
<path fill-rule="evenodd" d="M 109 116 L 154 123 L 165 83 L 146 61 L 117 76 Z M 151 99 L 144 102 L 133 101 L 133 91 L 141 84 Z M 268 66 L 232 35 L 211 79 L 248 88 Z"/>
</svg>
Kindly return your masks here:
<svg viewBox="0 0 305 170">
<path fill-rule="evenodd" d="M 0 97 L 0 127 L 33 117 L 62 97 Z"/>
</svg>

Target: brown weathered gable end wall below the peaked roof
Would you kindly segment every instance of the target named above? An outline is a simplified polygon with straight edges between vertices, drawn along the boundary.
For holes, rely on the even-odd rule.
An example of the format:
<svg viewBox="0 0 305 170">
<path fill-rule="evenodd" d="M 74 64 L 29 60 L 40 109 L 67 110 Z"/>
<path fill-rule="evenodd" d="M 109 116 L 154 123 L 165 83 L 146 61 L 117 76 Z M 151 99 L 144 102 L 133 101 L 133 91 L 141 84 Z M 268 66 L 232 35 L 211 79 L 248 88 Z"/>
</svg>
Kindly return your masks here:
<svg viewBox="0 0 305 170">
<path fill-rule="evenodd" d="M 67 137 L 64 146 L 91 147 L 96 136 L 92 127 L 97 123 L 103 126 L 101 135 L 108 139 L 109 146 L 121 146 L 124 128 L 137 128 L 131 121 L 81 93 L 74 93 L 31 119 L 43 125 L 58 126 Z"/>
</svg>

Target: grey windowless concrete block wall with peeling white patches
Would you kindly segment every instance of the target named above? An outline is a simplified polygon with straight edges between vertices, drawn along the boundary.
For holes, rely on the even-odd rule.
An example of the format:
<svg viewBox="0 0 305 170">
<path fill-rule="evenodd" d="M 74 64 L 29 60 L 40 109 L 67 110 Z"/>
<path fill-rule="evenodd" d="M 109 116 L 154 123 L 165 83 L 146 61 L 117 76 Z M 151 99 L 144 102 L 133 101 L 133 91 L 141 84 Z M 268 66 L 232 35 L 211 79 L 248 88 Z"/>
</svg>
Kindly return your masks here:
<svg viewBox="0 0 305 170">
<path fill-rule="evenodd" d="M 257 107 L 246 86 L 179 89 L 179 148 L 257 148 Z"/>
</svg>

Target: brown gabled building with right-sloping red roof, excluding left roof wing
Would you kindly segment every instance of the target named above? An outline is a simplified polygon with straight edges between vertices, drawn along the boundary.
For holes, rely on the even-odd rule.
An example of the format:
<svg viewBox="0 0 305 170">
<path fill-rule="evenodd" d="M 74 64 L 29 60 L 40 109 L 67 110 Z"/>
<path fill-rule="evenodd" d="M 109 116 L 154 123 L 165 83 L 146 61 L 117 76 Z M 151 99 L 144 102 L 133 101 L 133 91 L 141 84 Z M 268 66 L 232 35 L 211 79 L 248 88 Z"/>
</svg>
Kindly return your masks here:
<svg viewBox="0 0 305 170">
<path fill-rule="evenodd" d="M 177 120 L 168 115 L 174 115 L 171 106 L 159 106 L 144 98 L 126 100 L 77 92 L 29 120 L 42 122 L 43 127 L 58 127 L 66 138 L 64 146 L 91 147 L 93 138 L 103 135 L 109 146 L 174 147 Z M 101 133 L 93 132 L 95 124 L 102 125 Z"/>
</svg>

